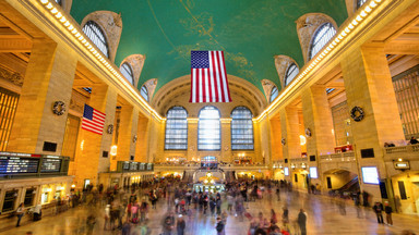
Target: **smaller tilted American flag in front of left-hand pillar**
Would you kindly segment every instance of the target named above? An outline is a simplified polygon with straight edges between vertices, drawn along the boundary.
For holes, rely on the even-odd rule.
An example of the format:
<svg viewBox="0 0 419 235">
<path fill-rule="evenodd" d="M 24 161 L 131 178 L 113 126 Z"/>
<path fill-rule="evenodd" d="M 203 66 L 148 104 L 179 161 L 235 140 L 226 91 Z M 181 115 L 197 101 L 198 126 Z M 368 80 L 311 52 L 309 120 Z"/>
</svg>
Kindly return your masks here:
<svg viewBox="0 0 419 235">
<path fill-rule="evenodd" d="M 84 104 L 82 128 L 101 135 L 106 114 Z"/>
</svg>

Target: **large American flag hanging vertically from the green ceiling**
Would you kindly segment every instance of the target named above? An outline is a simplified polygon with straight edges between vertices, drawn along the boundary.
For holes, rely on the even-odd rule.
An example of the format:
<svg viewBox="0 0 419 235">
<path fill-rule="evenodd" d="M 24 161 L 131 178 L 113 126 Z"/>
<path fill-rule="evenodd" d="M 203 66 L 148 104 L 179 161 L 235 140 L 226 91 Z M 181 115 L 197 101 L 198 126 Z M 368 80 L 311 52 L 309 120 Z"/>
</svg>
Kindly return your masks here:
<svg viewBox="0 0 419 235">
<path fill-rule="evenodd" d="M 231 102 L 224 51 L 191 51 L 189 102 Z"/>
</svg>

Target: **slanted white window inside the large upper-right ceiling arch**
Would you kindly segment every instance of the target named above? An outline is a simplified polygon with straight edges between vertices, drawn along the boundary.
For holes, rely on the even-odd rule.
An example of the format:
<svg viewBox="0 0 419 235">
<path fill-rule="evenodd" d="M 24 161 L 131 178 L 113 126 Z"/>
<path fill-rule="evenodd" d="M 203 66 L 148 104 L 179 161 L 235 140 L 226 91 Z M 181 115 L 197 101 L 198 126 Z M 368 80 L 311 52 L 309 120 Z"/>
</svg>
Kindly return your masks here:
<svg viewBox="0 0 419 235">
<path fill-rule="evenodd" d="M 336 29 L 332 23 L 321 25 L 314 34 L 309 51 L 309 60 L 319 53 L 319 51 L 335 36 Z"/>
</svg>

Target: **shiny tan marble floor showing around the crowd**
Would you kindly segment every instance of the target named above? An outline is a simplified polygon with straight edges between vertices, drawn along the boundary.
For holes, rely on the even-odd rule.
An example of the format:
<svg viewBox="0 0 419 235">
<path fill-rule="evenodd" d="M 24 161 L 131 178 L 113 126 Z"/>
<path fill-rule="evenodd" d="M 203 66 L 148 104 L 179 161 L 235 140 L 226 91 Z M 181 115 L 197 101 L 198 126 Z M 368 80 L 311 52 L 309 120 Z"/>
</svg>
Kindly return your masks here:
<svg viewBox="0 0 419 235">
<path fill-rule="evenodd" d="M 291 224 L 291 234 L 298 234 L 292 227 L 292 222 L 296 221 L 298 210 L 303 208 L 308 214 L 308 234 L 402 234 L 404 230 L 410 230 L 419 234 L 419 218 L 417 215 L 397 214 L 393 215 L 394 225 L 378 224 L 376 218 L 371 209 L 362 210 L 360 219 L 357 218 L 356 208 L 348 201 L 345 206 L 346 214 L 342 214 L 336 201 L 325 196 L 307 195 L 307 194 L 282 194 L 282 201 L 277 201 L 275 196 L 265 195 L 263 199 L 254 202 L 247 202 L 247 211 L 256 217 L 262 212 L 265 217 L 270 217 L 271 209 L 274 209 L 278 214 L 282 213 L 282 208 L 289 208 L 289 219 Z M 223 210 L 227 205 L 223 205 Z M 24 235 L 31 231 L 34 235 L 75 235 L 86 234 L 85 220 L 91 213 L 97 217 L 97 223 L 93 234 L 121 234 L 120 231 L 104 231 L 103 209 L 92 209 L 87 207 L 79 207 L 56 217 L 46 217 L 41 221 L 23 224 L 20 227 L 0 233 L 0 235 Z M 152 230 L 152 235 L 160 234 L 160 222 L 167 211 L 165 200 L 159 200 L 156 210 L 151 210 L 148 213 L 148 227 Z M 385 217 L 384 217 L 385 218 Z M 190 235 L 214 235 L 216 231 L 215 217 L 204 215 L 195 211 L 191 218 L 185 218 L 187 234 Z M 249 220 L 244 218 L 240 221 L 235 214 L 230 214 L 227 220 L 227 235 L 247 235 L 249 230 Z M 140 234 L 140 233 L 139 233 Z M 175 235 L 176 233 L 173 233 Z"/>
</svg>

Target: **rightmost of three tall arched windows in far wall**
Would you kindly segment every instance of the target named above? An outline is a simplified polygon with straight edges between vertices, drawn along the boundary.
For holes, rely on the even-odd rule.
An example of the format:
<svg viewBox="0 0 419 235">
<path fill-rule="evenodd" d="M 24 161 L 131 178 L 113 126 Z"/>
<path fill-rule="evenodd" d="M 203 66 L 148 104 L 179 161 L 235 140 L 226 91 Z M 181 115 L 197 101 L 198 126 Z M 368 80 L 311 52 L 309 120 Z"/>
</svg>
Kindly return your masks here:
<svg viewBox="0 0 419 235">
<path fill-rule="evenodd" d="M 252 112 L 237 107 L 231 112 L 231 150 L 253 149 Z"/>
</svg>

